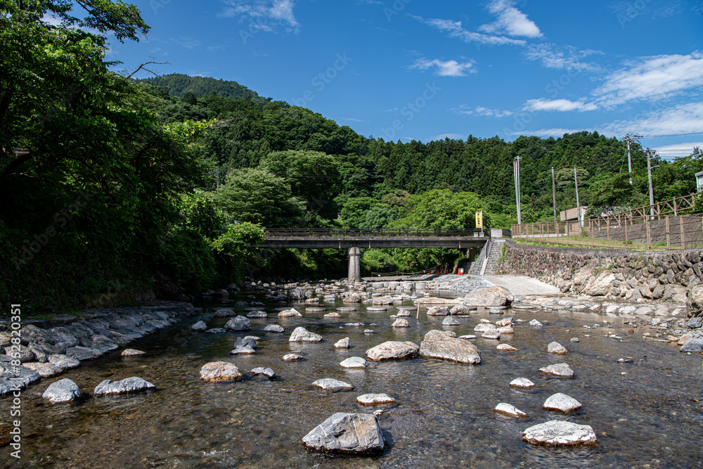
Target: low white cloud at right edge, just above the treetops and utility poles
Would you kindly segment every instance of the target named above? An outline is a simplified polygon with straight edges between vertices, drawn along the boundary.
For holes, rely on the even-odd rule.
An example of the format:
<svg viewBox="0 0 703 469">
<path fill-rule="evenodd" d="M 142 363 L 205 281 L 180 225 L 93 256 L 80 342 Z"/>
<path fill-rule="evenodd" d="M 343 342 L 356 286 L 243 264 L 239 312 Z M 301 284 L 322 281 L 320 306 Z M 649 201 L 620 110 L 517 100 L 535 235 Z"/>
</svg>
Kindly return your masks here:
<svg viewBox="0 0 703 469">
<path fill-rule="evenodd" d="M 628 132 L 644 136 L 703 134 L 703 103 L 685 103 L 655 110 L 633 120 L 607 124 L 603 131 L 615 136 Z"/>
</svg>

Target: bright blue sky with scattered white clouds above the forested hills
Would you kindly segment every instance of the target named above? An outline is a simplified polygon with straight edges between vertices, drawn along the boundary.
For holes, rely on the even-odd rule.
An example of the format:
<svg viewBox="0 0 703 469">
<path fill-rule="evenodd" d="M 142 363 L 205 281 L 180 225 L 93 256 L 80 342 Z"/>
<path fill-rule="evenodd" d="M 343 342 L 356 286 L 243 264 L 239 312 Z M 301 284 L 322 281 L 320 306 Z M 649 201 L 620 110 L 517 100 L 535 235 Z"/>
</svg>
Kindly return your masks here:
<svg viewBox="0 0 703 469">
<path fill-rule="evenodd" d="M 703 1 L 138 0 L 133 70 L 235 80 L 365 136 L 599 131 L 703 148 Z M 137 75 L 147 77 L 146 73 Z"/>
</svg>

